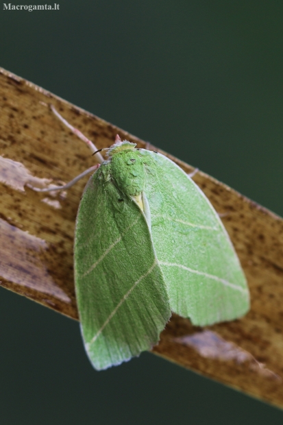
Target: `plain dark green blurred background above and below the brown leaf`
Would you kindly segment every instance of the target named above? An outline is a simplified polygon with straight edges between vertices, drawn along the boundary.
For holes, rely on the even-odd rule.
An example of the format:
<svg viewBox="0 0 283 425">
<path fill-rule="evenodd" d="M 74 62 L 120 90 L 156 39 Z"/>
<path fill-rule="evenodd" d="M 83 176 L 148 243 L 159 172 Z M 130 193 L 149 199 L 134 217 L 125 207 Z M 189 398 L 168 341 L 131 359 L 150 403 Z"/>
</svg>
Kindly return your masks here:
<svg viewBox="0 0 283 425">
<path fill-rule="evenodd" d="M 1 10 L 1 66 L 283 215 L 282 0 L 56 1 Z M 1 424 L 282 424 L 151 354 L 95 372 L 75 321 L 0 294 Z"/>
</svg>

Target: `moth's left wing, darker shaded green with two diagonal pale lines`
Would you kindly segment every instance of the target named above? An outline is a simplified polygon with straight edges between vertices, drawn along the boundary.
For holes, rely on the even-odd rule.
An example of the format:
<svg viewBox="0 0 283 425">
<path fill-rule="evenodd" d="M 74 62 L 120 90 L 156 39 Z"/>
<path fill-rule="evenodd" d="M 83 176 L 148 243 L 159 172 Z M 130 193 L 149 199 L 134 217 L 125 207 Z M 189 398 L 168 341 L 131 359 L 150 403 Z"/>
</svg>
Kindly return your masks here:
<svg viewBox="0 0 283 425">
<path fill-rule="evenodd" d="M 151 349 L 171 315 L 145 217 L 112 182 L 99 180 L 99 171 L 77 214 L 75 287 L 86 352 L 96 369 Z"/>
</svg>

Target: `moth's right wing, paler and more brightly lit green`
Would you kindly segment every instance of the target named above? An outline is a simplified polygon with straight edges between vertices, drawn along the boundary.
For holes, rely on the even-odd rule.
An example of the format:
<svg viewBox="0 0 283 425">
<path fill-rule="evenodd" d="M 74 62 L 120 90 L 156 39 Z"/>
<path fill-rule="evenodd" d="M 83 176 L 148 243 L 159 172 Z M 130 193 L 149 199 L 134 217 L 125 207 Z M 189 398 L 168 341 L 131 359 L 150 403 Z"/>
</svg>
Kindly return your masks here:
<svg viewBox="0 0 283 425">
<path fill-rule="evenodd" d="M 200 326 L 241 317 L 249 291 L 219 216 L 180 167 L 150 155 L 156 165 L 147 167 L 151 231 L 172 311 Z"/>
</svg>

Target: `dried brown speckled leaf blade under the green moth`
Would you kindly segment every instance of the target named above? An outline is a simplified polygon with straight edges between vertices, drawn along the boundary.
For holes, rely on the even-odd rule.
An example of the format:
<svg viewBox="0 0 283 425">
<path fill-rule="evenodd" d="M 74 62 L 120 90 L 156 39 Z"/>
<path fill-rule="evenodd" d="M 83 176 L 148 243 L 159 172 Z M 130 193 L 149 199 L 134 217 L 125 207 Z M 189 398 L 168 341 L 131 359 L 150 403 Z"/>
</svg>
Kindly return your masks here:
<svg viewBox="0 0 283 425">
<path fill-rule="evenodd" d="M 116 133 L 138 147 L 152 147 L 3 69 L 0 91 L 1 286 L 77 319 L 73 232 L 87 178 L 56 197 L 23 191 L 23 184 L 69 182 L 93 165 L 93 158 L 47 104 L 56 106 L 98 149 L 110 146 Z M 165 155 L 187 173 L 193 170 Z M 234 243 L 249 282 L 251 311 L 206 330 L 174 315 L 153 352 L 283 407 L 283 221 L 205 173 L 198 172 L 194 180 Z"/>
</svg>

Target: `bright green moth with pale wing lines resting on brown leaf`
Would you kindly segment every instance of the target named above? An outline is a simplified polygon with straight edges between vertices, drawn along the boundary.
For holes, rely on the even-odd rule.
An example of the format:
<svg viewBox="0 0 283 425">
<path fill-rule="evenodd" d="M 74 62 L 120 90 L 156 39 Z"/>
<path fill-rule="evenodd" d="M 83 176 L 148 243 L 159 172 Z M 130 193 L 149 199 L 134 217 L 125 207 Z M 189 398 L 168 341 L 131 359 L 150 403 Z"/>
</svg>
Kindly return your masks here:
<svg viewBox="0 0 283 425">
<path fill-rule="evenodd" d="M 84 189 L 74 250 L 82 335 L 98 370 L 150 350 L 171 312 L 206 326 L 249 309 L 234 247 L 193 180 L 119 137 L 107 157 Z"/>
</svg>

